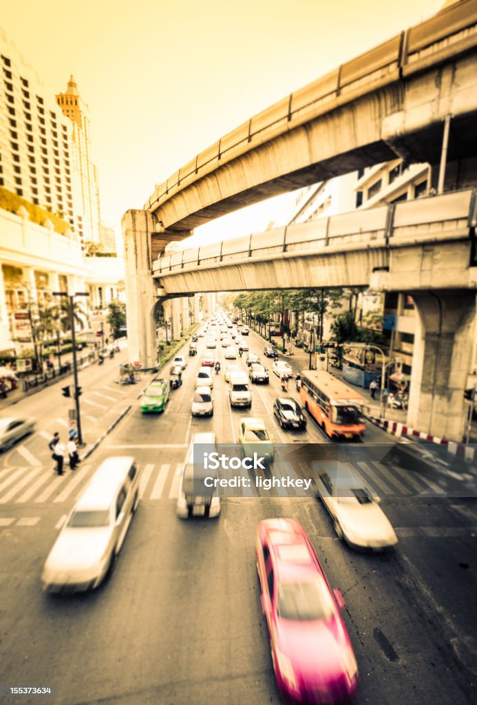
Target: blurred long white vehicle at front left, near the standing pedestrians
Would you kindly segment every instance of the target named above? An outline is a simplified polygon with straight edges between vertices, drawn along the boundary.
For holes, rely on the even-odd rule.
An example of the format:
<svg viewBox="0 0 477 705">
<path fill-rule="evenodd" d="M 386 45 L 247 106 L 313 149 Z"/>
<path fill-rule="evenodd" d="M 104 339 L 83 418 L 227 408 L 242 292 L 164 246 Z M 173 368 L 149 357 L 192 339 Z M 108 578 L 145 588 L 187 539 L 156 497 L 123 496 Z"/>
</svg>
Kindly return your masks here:
<svg viewBox="0 0 477 705">
<path fill-rule="evenodd" d="M 76 592 L 98 587 L 113 568 L 139 503 L 134 458 L 107 458 L 68 515 L 44 564 L 43 589 Z"/>
</svg>

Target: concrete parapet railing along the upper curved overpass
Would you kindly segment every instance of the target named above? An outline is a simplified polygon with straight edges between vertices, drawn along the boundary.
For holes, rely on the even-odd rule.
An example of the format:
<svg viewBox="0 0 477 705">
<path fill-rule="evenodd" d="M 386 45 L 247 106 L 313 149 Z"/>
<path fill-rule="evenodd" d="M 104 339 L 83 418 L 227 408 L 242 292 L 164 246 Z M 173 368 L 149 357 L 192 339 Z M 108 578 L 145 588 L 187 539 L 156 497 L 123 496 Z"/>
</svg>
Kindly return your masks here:
<svg viewBox="0 0 477 705">
<path fill-rule="evenodd" d="M 428 61 L 433 49 L 437 59 L 446 46 L 452 45 L 457 54 L 461 45 L 467 46 L 469 36 L 476 34 L 477 0 L 464 0 L 445 8 L 419 25 L 409 27 L 378 47 L 347 61 L 221 137 L 168 180 L 157 185 L 144 209 L 154 211 L 181 186 L 190 185 L 211 171 L 214 165 L 230 161 L 256 144 L 284 133 L 290 129 L 290 123 L 298 124 L 302 118 L 308 119 L 313 111 L 322 109 L 323 104 L 332 103 L 353 90 L 364 94 L 373 90 L 377 82 L 392 82 L 404 74 L 418 71 L 419 60 Z"/>
</svg>

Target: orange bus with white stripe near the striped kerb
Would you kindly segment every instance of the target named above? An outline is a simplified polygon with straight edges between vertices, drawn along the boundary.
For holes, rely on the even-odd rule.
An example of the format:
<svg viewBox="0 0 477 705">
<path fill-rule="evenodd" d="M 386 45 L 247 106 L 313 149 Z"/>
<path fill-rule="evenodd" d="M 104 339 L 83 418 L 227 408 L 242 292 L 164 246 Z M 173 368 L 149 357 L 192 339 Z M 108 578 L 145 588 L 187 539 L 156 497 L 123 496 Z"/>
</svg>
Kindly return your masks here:
<svg viewBox="0 0 477 705">
<path fill-rule="evenodd" d="M 330 439 L 364 436 L 364 398 L 324 370 L 302 372 L 299 392 L 305 409 Z"/>
</svg>

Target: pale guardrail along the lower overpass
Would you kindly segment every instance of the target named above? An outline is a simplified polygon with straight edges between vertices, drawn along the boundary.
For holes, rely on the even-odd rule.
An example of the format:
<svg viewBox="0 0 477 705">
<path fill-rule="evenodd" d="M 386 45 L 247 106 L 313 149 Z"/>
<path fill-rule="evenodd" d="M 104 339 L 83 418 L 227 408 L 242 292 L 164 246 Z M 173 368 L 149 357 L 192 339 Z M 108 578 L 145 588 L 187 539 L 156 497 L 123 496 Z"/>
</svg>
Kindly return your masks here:
<svg viewBox="0 0 477 705">
<path fill-rule="evenodd" d="M 453 191 L 173 252 L 153 262 L 153 274 L 167 276 L 183 269 L 284 252 L 306 255 L 356 245 L 396 247 L 419 241 L 475 239 L 476 225 L 477 189 Z"/>
</svg>

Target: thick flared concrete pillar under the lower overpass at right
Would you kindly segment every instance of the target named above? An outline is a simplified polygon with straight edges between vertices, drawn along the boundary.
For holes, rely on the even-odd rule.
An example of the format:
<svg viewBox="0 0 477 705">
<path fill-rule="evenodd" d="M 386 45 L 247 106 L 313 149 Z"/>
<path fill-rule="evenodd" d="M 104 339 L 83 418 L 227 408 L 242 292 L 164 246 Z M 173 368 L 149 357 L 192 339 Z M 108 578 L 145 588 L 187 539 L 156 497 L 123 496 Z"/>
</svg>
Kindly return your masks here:
<svg viewBox="0 0 477 705">
<path fill-rule="evenodd" d="M 418 320 L 407 424 L 459 442 L 466 422 L 466 377 L 473 369 L 476 293 L 436 290 L 412 296 Z"/>
</svg>

